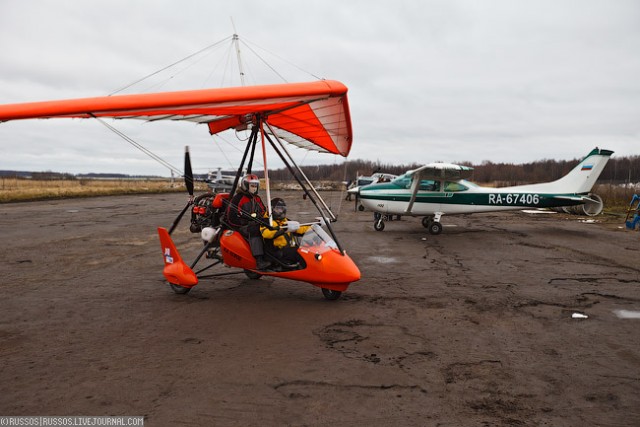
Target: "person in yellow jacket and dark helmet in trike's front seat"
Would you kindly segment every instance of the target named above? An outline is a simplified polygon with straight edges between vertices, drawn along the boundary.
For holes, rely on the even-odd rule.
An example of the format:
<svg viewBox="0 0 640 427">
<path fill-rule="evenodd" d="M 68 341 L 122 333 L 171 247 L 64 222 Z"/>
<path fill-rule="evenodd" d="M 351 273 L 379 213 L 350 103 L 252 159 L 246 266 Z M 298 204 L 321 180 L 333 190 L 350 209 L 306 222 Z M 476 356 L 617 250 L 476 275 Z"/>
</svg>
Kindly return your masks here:
<svg viewBox="0 0 640 427">
<path fill-rule="evenodd" d="M 287 219 L 287 205 L 279 197 L 271 200 L 274 230 L 265 226 L 260 227 L 260 233 L 265 242 L 265 250 L 273 258 L 277 259 L 285 267 L 295 268 L 298 263 L 297 241 L 293 234 L 303 235 L 310 225 L 300 226 L 297 221 Z"/>
</svg>

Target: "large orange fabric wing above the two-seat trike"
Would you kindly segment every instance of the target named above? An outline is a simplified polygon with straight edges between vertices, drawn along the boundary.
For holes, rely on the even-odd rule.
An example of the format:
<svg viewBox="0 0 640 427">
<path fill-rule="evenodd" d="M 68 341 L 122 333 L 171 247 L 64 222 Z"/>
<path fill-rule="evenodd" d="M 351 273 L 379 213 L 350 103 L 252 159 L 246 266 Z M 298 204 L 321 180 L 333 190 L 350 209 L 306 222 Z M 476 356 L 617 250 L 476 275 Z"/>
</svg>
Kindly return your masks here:
<svg viewBox="0 0 640 427">
<path fill-rule="evenodd" d="M 345 157 L 351 149 L 347 87 L 332 80 L 0 105 L 0 122 L 54 117 L 183 120 L 205 123 L 211 134 L 246 128 L 254 115 L 265 117 L 279 138 L 296 146 Z"/>
</svg>

